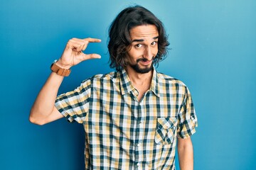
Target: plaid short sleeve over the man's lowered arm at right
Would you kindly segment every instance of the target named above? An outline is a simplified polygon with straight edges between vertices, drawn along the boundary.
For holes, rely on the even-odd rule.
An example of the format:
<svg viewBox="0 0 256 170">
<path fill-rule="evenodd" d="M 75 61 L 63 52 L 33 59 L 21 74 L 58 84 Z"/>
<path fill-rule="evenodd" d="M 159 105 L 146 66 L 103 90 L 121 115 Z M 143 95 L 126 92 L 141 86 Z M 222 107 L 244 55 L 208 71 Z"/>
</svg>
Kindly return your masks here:
<svg viewBox="0 0 256 170">
<path fill-rule="evenodd" d="M 183 104 L 181 105 L 180 112 L 178 113 L 178 121 L 178 137 L 187 138 L 196 132 L 198 120 L 193 106 L 192 97 L 187 87 L 185 87 Z"/>
</svg>

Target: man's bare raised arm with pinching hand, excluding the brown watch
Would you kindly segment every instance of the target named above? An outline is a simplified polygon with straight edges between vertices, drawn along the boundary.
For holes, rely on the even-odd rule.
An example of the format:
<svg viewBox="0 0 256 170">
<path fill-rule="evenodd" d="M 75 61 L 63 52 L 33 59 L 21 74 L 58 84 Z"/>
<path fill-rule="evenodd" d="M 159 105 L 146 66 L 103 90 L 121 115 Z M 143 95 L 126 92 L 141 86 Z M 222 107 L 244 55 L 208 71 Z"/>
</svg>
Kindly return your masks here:
<svg viewBox="0 0 256 170">
<path fill-rule="evenodd" d="M 82 61 L 90 60 L 93 58 L 100 58 L 100 55 L 85 55 L 82 52 L 86 49 L 90 42 L 100 42 L 100 40 L 95 38 L 73 38 L 69 40 L 63 55 L 60 57 L 60 60 L 58 60 L 56 64 L 64 69 L 70 69 L 70 67 L 73 67 Z M 57 97 L 58 89 L 60 88 L 62 81 L 62 76 L 59 76 L 55 72 L 50 74 L 46 84 L 43 85 L 43 88 L 39 92 L 36 101 L 31 108 L 31 113 L 29 116 L 31 123 L 44 125 L 54 120 L 58 120 L 59 118 L 63 118 L 63 115 L 61 115 L 57 108 L 54 106 L 55 98 Z"/>
</svg>

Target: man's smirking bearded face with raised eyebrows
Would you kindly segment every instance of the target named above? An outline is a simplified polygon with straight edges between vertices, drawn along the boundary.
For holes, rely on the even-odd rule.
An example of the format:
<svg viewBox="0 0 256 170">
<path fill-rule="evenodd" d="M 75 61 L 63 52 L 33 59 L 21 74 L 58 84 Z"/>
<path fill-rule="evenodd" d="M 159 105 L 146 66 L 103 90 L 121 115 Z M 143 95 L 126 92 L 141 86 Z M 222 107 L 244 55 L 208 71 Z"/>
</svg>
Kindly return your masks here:
<svg viewBox="0 0 256 170">
<path fill-rule="evenodd" d="M 156 26 L 136 26 L 130 30 L 130 36 L 132 44 L 127 49 L 127 67 L 142 74 L 150 72 L 158 52 L 159 33 Z"/>
</svg>

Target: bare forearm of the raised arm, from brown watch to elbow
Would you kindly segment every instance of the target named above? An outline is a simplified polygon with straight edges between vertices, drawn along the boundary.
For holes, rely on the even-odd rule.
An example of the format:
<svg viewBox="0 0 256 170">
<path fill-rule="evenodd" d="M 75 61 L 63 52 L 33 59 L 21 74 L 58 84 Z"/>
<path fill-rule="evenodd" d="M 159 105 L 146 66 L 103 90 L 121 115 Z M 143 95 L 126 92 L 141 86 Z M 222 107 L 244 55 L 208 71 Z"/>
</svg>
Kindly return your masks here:
<svg viewBox="0 0 256 170">
<path fill-rule="evenodd" d="M 55 99 L 62 81 L 62 76 L 55 72 L 50 74 L 31 108 L 31 115 L 29 117 L 31 123 L 41 124 L 40 121 L 43 121 L 53 112 Z"/>
</svg>

